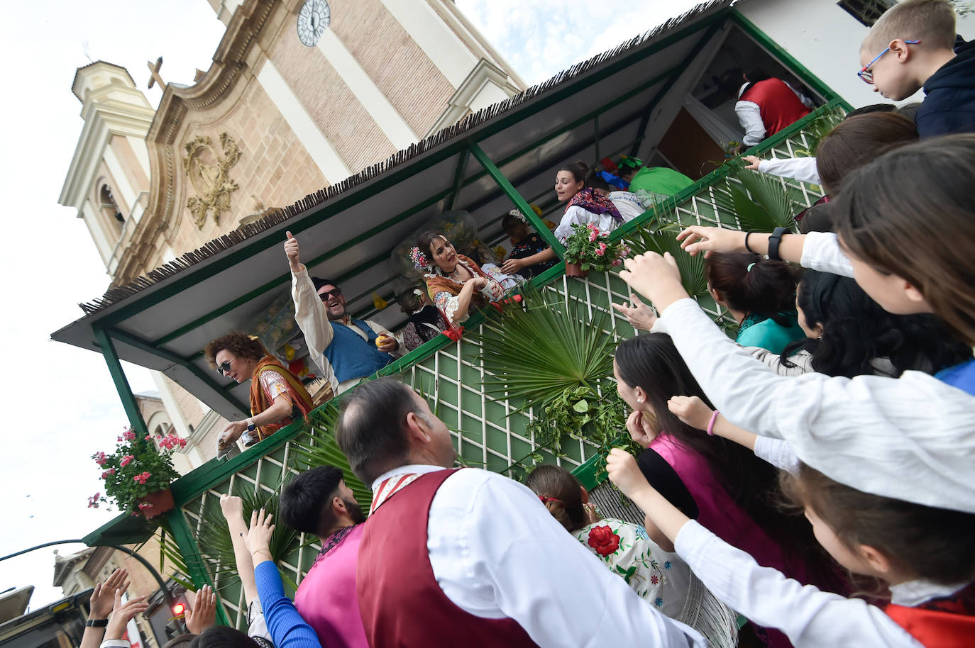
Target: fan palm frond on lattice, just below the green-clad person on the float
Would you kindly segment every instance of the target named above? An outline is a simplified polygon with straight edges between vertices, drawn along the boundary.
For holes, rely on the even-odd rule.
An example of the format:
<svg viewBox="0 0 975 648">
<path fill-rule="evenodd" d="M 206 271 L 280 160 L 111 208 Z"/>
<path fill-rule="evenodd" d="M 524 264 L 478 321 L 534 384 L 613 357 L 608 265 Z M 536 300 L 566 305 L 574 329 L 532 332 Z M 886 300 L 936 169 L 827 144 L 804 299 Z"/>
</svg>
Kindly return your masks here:
<svg viewBox="0 0 975 648">
<path fill-rule="evenodd" d="M 723 186 L 715 187 L 714 196 L 719 210 L 733 214 L 741 229 L 754 232 L 794 229 L 796 214 L 805 208 L 783 190 L 780 179 L 748 169 L 731 173 Z"/>
</svg>

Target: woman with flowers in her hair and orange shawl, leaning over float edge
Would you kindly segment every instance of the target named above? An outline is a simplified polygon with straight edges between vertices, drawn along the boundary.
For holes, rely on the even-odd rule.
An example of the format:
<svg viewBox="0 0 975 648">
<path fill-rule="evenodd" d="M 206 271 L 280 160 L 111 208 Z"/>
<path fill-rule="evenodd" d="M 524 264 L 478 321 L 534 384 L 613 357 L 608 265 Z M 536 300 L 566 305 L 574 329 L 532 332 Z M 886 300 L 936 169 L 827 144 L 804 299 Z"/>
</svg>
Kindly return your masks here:
<svg viewBox="0 0 975 648">
<path fill-rule="evenodd" d="M 504 287 L 457 250 L 441 232 L 423 232 L 410 250 L 434 305 L 451 327 L 466 321 L 472 308 L 504 297 Z"/>
</svg>

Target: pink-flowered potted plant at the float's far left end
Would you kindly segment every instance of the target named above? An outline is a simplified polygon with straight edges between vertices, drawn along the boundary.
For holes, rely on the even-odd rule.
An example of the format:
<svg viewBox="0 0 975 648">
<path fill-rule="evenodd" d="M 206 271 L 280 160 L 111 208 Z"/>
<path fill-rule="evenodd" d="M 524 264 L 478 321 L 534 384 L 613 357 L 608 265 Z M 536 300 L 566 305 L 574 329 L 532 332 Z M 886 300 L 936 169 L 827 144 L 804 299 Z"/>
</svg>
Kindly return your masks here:
<svg viewBox="0 0 975 648">
<path fill-rule="evenodd" d="M 144 499 L 150 493 L 169 490 L 170 483 L 179 476 L 173 467 L 173 453 L 186 446 L 186 439 L 174 434 L 165 437 L 146 435 L 139 442 L 136 433 L 126 428 L 118 438 L 119 444 L 111 454 L 92 455 L 101 467 L 104 495 L 96 493 L 88 498 L 88 508 L 98 509 L 99 502 L 114 500 L 119 511 L 132 515 L 151 513 L 153 505 Z"/>
</svg>

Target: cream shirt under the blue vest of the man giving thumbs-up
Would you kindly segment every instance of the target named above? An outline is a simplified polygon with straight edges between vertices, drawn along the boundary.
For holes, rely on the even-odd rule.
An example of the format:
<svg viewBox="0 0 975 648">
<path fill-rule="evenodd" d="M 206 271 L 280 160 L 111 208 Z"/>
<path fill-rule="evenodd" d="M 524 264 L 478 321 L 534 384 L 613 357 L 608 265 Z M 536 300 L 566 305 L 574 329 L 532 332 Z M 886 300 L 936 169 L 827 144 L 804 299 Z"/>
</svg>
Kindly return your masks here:
<svg viewBox="0 0 975 648">
<path fill-rule="evenodd" d="M 331 393 L 337 396 L 345 390 L 354 387 L 365 376 L 350 378 L 339 384 L 338 378 L 335 377 L 335 371 L 331 368 L 331 362 L 325 357 L 325 350 L 331 344 L 331 338 L 334 333 L 331 330 L 329 311 L 322 298 L 318 295 L 318 291 L 315 289 L 311 278 L 308 276 L 307 269 L 297 273 L 292 272 L 292 300 L 294 301 L 294 321 L 297 322 L 298 328 L 301 329 L 301 333 L 304 335 L 305 344 L 308 345 L 308 356 L 315 363 L 315 366 L 318 367 L 318 370 L 322 373 L 322 377 L 329 381 Z M 403 351 L 406 347 L 403 344 L 402 337 L 389 332 L 382 325 L 376 324 L 371 320 L 367 320 L 366 324 L 369 324 L 369 327 L 377 335 L 386 335 L 387 337 L 395 338 L 399 342 L 399 346 L 390 355 L 393 358 L 403 356 Z M 366 332 L 361 330 L 359 326 L 352 324 L 349 328 L 364 340 L 369 341 Z"/>
</svg>

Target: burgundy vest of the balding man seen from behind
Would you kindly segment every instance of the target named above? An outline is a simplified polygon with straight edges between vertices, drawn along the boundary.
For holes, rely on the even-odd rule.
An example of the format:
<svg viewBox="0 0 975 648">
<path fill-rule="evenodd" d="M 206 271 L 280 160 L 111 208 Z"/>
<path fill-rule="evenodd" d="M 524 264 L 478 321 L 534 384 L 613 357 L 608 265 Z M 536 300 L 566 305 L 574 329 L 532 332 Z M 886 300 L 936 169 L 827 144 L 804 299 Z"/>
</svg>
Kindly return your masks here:
<svg viewBox="0 0 975 648">
<path fill-rule="evenodd" d="M 466 612 L 440 589 L 427 553 L 430 504 L 455 471 L 419 476 L 390 495 L 363 525 L 356 591 L 372 648 L 536 644 L 511 619 Z"/>
</svg>

